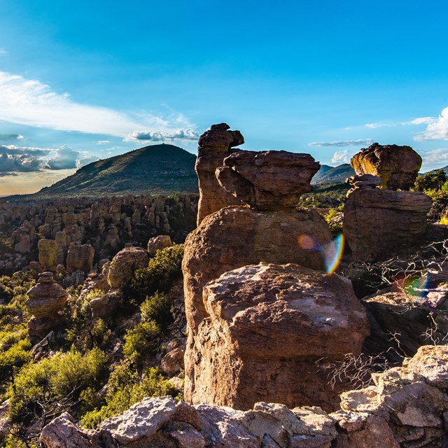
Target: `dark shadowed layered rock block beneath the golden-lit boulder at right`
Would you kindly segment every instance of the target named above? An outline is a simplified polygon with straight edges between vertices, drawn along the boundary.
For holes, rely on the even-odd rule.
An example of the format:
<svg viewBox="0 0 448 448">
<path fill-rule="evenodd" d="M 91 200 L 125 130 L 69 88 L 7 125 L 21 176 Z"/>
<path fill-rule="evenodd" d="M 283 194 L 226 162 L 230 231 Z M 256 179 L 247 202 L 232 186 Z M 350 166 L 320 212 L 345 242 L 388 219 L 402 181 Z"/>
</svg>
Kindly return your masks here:
<svg viewBox="0 0 448 448">
<path fill-rule="evenodd" d="M 424 193 L 353 190 L 344 205 L 344 235 L 353 259 L 372 262 L 414 252 L 425 240 L 431 204 Z"/>
</svg>

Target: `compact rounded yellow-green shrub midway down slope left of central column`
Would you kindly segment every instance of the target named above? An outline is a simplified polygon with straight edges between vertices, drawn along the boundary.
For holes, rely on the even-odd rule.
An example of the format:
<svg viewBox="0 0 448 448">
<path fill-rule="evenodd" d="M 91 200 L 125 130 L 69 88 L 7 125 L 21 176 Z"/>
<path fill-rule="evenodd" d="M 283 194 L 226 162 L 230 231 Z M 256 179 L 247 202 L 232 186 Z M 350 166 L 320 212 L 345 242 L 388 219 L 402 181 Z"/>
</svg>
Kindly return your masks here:
<svg viewBox="0 0 448 448">
<path fill-rule="evenodd" d="M 160 325 L 155 321 L 141 322 L 127 330 L 123 353 L 132 362 L 141 365 L 160 348 Z"/>
</svg>

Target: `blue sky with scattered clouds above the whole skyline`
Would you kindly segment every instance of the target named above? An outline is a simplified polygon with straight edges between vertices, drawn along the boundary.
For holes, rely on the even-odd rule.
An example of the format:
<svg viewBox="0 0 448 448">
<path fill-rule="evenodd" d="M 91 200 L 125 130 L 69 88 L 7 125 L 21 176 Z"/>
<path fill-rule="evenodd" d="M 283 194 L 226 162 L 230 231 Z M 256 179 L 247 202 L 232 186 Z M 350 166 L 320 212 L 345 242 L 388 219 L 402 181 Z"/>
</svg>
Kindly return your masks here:
<svg viewBox="0 0 448 448">
<path fill-rule="evenodd" d="M 448 165 L 443 1 L 0 0 L 0 194 L 148 144 L 348 162 L 373 141 Z"/>
</svg>

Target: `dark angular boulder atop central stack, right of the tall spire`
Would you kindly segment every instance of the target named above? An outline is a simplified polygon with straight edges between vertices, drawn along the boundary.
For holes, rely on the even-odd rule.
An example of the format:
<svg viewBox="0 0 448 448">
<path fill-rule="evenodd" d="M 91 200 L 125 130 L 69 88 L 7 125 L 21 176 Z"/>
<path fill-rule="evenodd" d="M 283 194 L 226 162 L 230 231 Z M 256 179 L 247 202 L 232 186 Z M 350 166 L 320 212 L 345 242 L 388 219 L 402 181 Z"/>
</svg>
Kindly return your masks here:
<svg viewBox="0 0 448 448">
<path fill-rule="evenodd" d="M 309 154 L 287 151 L 236 151 L 223 160 L 216 177 L 237 200 L 259 210 L 295 207 L 312 190 L 321 167 Z"/>
</svg>

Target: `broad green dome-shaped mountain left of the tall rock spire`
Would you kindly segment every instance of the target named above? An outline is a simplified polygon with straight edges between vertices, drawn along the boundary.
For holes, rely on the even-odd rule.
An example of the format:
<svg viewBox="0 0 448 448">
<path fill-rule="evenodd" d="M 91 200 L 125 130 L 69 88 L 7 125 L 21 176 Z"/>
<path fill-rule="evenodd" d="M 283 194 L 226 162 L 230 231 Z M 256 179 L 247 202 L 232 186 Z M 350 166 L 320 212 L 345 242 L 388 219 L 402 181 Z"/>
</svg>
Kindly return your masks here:
<svg viewBox="0 0 448 448">
<path fill-rule="evenodd" d="M 92 162 L 30 199 L 105 195 L 197 193 L 194 154 L 160 144 Z"/>
</svg>

